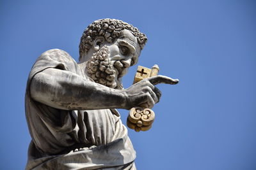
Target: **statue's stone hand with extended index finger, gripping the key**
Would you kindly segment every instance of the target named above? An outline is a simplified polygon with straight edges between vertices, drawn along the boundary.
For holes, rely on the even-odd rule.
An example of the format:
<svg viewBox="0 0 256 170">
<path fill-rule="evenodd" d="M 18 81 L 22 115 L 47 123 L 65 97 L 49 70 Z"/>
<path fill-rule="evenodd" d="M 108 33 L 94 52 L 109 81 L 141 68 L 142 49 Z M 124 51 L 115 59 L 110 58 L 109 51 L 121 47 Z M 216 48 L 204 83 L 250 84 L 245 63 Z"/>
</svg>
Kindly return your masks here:
<svg viewBox="0 0 256 170">
<path fill-rule="evenodd" d="M 128 89 L 124 89 L 127 96 L 125 108 L 131 109 L 136 106 L 148 106 L 148 108 L 153 108 L 154 104 L 158 103 L 161 97 L 161 91 L 154 86 L 159 83 L 175 85 L 179 83 L 179 80 L 158 75 L 145 78 L 135 83 Z"/>
</svg>

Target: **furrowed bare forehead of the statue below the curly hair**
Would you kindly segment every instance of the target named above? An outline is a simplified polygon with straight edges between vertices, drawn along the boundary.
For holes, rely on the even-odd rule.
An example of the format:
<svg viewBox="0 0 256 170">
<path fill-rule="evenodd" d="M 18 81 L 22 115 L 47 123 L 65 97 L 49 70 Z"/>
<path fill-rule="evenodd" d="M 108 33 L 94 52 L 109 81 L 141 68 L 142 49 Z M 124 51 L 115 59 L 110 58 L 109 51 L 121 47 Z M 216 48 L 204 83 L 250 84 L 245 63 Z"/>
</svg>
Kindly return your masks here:
<svg viewBox="0 0 256 170">
<path fill-rule="evenodd" d="M 129 43 L 134 48 L 134 53 L 140 55 L 140 45 L 137 41 L 137 38 L 127 29 L 122 30 L 122 34 L 117 39 L 117 41 L 124 41 L 125 43 Z"/>
</svg>

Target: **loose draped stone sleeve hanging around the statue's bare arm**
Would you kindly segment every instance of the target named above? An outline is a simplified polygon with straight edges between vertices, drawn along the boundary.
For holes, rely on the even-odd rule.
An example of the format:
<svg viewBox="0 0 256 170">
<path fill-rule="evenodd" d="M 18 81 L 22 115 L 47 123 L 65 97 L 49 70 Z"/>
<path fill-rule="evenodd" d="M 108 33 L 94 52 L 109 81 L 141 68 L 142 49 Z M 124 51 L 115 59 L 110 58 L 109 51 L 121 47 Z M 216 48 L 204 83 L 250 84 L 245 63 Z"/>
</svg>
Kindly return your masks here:
<svg viewBox="0 0 256 170">
<path fill-rule="evenodd" d="M 44 153 L 58 153 L 74 145 L 73 134 L 77 124 L 74 111 L 59 110 L 34 101 L 30 96 L 30 83 L 33 77 L 47 68 L 63 69 L 78 73 L 77 63 L 67 52 L 53 49 L 42 53 L 33 65 L 26 88 L 25 111 L 29 133 L 36 148 Z"/>
</svg>

